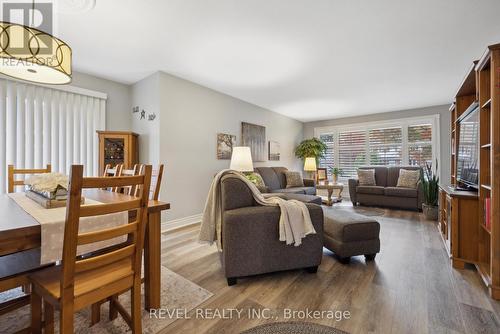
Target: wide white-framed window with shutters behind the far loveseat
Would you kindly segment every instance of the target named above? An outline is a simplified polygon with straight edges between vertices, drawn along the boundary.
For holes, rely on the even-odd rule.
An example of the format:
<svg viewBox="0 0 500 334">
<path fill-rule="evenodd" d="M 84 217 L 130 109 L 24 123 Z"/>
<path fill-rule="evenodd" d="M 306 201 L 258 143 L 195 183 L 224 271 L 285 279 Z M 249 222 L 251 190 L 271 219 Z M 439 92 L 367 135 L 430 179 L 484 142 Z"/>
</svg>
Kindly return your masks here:
<svg viewBox="0 0 500 334">
<path fill-rule="evenodd" d="M 314 135 L 328 147 L 320 167 L 340 168 L 343 182 L 363 165 L 425 166 L 439 156 L 439 115 L 318 127 Z"/>
</svg>

